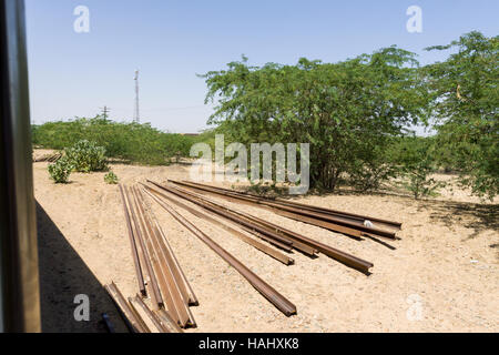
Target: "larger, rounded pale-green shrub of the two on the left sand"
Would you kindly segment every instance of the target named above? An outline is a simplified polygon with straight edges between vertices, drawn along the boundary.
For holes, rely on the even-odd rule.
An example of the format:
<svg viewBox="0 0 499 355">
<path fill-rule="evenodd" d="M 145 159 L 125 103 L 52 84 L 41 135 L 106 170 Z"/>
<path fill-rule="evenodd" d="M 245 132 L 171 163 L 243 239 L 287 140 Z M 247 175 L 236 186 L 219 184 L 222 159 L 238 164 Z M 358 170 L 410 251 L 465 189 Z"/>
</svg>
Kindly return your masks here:
<svg viewBox="0 0 499 355">
<path fill-rule="evenodd" d="M 71 148 L 64 150 L 67 159 L 78 172 L 89 173 L 102 171 L 108 168 L 105 162 L 105 149 L 98 146 L 95 142 L 81 140 Z"/>
</svg>

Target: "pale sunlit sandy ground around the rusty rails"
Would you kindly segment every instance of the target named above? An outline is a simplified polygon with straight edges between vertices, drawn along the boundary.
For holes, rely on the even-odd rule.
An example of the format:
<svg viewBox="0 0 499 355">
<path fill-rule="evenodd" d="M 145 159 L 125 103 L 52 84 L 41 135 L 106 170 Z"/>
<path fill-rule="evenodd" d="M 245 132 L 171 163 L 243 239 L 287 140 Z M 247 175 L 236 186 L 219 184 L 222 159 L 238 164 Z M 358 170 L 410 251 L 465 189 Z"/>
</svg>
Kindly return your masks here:
<svg viewBox="0 0 499 355">
<path fill-rule="evenodd" d="M 112 165 L 122 183 L 185 179 L 186 166 Z M 134 266 L 116 185 L 104 173 L 71 175 L 54 184 L 47 163 L 33 164 L 38 201 L 43 329 L 103 332 L 100 313 L 123 325 L 102 285 L 113 280 L 125 296 L 136 293 Z M 448 179 L 448 178 L 442 178 Z M 330 194 L 301 202 L 404 223 L 396 250 L 223 202 L 293 229 L 374 263 L 366 276 L 319 255 L 294 253 L 285 266 L 211 224 L 182 211 L 205 233 L 292 301 L 284 316 L 235 270 L 160 206 L 156 217 L 200 298 L 198 324 L 187 332 L 498 332 L 498 205 L 480 204 L 454 189 L 437 200 L 390 194 Z M 73 298 L 90 297 L 90 322 L 77 322 Z"/>
</svg>

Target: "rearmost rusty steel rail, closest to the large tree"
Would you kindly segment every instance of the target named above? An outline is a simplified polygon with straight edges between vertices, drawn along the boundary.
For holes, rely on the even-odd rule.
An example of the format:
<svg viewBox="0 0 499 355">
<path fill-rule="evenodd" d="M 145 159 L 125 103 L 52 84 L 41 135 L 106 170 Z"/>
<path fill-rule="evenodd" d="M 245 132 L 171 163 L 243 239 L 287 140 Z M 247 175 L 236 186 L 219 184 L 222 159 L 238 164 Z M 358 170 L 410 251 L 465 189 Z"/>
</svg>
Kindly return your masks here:
<svg viewBox="0 0 499 355">
<path fill-rule="evenodd" d="M 173 181 L 173 180 L 170 180 L 170 181 L 179 183 L 179 181 Z M 263 199 L 263 200 L 272 201 L 272 202 L 279 203 L 279 204 L 283 204 L 283 205 L 305 209 L 305 210 L 308 210 L 308 211 L 322 212 L 322 213 L 330 214 L 330 215 L 338 216 L 338 217 L 345 217 L 345 219 L 350 220 L 350 221 L 357 221 L 360 224 L 364 224 L 365 221 L 370 221 L 370 222 L 377 222 L 377 223 L 380 223 L 380 224 L 384 224 L 386 226 L 389 226 L 389 227 L 393 227 L 393 229 L 397 229 L 397 230 L 400 230 L 400 227 L 401 227 L 401 223 L 400 222 L 396 222 L 396 221 L 389 221 L 389 220 L 384 220 L 384 219 L 378 219 L 378 217 L 373 217 L 373 216 L 367 216 L 367 215 L 361 215 L 361 214 L 356 214 L 356 213 L 350 213 L 350 212 L 345 212 L 345 211 L 338 211 L 338 210 L 333 210 L 333 209 L 320 207 L 320 206 L 310 205 L 310 204 L 306 204 L 306 203 L 288 201 L 288 200 L 284 200 L 284 199 L 281 199 L 281 197 L 268 197 L 268 196 L 264 197 L 264 196 L 258 196 L 258 195 L 255 195 L 255 194 L 252 194 L 252 193 L 248 193 L 248 192 L 244 192 L 244 191 L 236 191 L 236 190 L 231 190 L 231 189 L 224 189 L 224 187 L 202 184 L 202 183 L 193 182 L 193 181 L 189 181 L 189 182 L 183 181 L 182 183 L 190 183 L 190 184 L 193 184 L 193 185 L 215 189 L 215 190 L 223 191 L 223 192 L 228 192 L 228 193 L 234 193 L 234 194 L 240 194 L 240 195 L 245 195 L 245 196 L 252 196 L 252 197 L 256 197 L 256 199 Z"/>
</svg>

